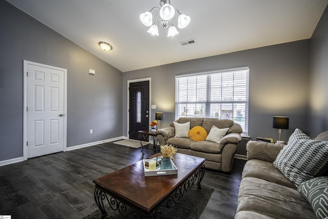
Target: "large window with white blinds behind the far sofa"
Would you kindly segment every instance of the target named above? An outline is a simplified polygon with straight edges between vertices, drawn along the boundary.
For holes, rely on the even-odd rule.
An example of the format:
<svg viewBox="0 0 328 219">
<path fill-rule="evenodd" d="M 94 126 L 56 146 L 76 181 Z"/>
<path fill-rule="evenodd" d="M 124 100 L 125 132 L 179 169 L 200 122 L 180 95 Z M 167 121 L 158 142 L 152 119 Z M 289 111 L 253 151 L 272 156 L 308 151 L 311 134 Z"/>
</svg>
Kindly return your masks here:
<svg viewBox="0 0 328 219">
<path fill-rule="evenodd" d="M 248 133 L 249 68 L 175 78 L 175 118 L 228 118 Z"/>
</svg>

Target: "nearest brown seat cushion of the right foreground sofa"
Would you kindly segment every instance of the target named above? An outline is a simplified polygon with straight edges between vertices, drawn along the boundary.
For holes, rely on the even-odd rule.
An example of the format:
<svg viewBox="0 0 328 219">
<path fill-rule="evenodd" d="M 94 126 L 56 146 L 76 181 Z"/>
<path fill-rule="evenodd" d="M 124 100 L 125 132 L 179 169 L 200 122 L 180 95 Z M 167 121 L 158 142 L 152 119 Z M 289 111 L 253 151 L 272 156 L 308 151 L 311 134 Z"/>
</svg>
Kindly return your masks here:
<svg viewBox="0 0 328 219">
<path fill-rule="evenodd" d="M 237 212 L 240 211 L 254 211 L 274 218 L 316 217 L 309 202 L 296 189 L 253 177 L 241 180 Z"/>
</svg>

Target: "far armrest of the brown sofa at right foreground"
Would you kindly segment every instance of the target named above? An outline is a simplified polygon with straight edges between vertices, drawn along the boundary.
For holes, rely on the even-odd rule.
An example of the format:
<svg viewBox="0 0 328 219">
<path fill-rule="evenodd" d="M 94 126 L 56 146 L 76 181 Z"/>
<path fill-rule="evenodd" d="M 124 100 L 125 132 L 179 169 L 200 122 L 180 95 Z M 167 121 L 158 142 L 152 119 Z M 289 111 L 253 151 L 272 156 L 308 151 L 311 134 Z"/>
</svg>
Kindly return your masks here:
<svg viewBox="0 0 328 219">
<path fill-rule="evenodd" d="M 282 148 L 283 145 L 259 141 L 249 141 L 246 145 L 247 160 L 258 159 L 272 163 L 276 160 L 276 157 Z"/>
</svg>

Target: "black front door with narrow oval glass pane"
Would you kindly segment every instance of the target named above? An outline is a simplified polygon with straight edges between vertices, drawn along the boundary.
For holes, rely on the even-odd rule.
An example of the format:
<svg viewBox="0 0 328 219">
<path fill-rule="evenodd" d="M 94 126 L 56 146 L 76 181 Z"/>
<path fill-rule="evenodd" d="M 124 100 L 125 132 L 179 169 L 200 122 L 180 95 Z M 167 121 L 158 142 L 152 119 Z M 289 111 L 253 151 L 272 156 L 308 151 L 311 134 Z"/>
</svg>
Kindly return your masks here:
<svg viewBox="0 0 328 219">
<path fill-rule="evenodd" d="M 129 85 L 129 138 L 138 140 L 138 131 L 149 129 L 149 81 Z"/>
</svg>

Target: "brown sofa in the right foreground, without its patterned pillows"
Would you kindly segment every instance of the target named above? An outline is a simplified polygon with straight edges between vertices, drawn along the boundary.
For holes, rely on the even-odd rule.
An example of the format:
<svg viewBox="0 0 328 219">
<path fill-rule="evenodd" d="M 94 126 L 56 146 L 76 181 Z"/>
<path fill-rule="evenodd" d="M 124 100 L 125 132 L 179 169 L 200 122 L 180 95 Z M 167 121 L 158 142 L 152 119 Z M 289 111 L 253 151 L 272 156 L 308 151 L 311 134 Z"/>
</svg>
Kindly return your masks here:
<svg viewBox="0 0 328 219">
<path fill-rule="evenodd" d="M 328 132 L 321 133 L 315 139 L 328 141 Z M 311 204 L 273 164 L 283 147 L 265 142 L 248 142 L 248 161 L 242 171 L 235 219 L 316 218 Z M 326 174 L 325 171 L 322 175 Z"/>
</svg>

